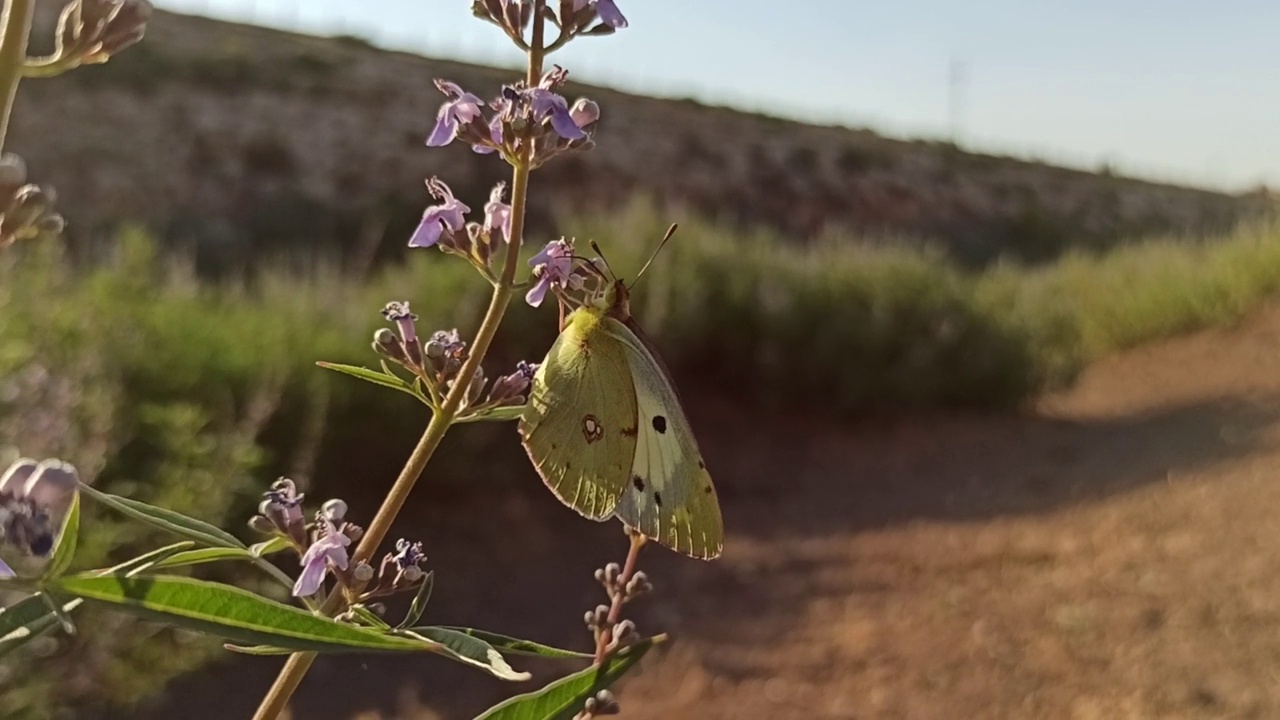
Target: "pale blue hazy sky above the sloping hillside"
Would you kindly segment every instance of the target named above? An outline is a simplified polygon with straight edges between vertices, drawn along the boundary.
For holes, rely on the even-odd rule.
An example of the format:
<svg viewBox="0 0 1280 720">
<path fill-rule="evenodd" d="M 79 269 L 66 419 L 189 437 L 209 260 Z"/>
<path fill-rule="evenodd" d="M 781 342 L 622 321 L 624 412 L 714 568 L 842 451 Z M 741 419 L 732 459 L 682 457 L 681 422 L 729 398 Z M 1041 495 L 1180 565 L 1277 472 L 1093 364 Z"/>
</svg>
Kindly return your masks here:
<svg viewBox="0 0 1280 720">
<path fill-rule="evenodd" d="M 1183 184 L 1280 188 L 1277 0 L 617 4 L 631 27 L 575 41 L 553 61 L 632 92 Z M 521 63 L 497 28 L 471 17 L 470 0 L 156 5 Z"/>
</svg>

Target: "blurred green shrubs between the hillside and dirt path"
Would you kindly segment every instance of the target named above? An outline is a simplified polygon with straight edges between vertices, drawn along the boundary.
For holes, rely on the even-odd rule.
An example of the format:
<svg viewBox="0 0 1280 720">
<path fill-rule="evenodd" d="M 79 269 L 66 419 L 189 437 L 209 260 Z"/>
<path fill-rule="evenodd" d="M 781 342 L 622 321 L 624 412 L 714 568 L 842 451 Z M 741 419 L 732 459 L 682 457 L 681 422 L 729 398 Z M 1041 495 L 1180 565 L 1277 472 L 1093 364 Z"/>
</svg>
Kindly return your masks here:
<svg viewBox="0 0 1280 720">
<path fill-rule="evenodd" d="M 599 238 L 631 274 L 668 219 L 637 200 L 566 228 Z M 315 360 L 375 364 L 367 341 L 387 300 L 410 300 L 424 329 L 471 328 L 486 296 L 470 268 L 434 250 L 365 278 L 312 256 L 209 282 L 189 256 L 125 229 L 105 258 L 77 265 L 52 242 L 4 256 L 0 446 L 69 457 L 104 489 L 233 528 L 275 474 L 333 487 L 343 478 L 332 471 L 394 465 L 380 454 L 422 427 L 422 409 L 404 396 L 328 377 Z M 695 395 L 849 418 L 1016 407 L 1103 354 L 1240 318 L 1277 284 L 1275 222 L 973 272 L 927 247 L 838 233 L 796 246 L 692 219 L 639 286 L 635 313 Z M 539 357 L 554 322 L 548 309 L 515 309 L 489 373 Z M 454 461 L 479 461 L 502 432 L 509 428 L 476 430 Z M 320 462 L 323 454 L 343 461 Z M 86 528 L 84 565 L 157 539 L 100 512 Z M 220 652 L 110 623 L 129 628 L 99 625 L 8 657 L 0 712 L 127 705 Z"/>
</svg>

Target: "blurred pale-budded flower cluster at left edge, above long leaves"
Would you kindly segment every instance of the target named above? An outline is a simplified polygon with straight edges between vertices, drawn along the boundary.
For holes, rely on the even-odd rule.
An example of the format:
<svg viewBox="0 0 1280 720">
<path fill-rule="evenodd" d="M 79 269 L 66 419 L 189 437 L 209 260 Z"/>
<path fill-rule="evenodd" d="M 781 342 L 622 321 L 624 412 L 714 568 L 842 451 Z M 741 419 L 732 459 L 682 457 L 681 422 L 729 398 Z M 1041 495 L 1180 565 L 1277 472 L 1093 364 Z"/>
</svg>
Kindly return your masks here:
<svg viewBox="0 0 1280 720">
<path fill-rule="evenodd" d="M 61 460 L 13 462 L 0 475 L 0 546 L 22 556 L 49 557 L 78 487 L 76 468 Z M 0 578 L 14 575 L 0 560 Z"/>
</svg>

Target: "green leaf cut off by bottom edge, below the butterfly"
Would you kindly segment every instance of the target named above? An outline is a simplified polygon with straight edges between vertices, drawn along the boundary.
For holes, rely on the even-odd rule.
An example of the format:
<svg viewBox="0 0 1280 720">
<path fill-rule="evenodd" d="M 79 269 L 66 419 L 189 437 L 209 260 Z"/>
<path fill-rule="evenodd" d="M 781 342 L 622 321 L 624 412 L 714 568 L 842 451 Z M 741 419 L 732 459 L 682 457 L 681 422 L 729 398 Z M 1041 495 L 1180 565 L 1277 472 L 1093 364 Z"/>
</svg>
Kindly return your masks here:
<svg viewBox="0 0 1280 720">
<path fill-rule="evenodd" d="M 644 653 L 666 642 L 657 635 L 620 651 L 603 667 L 590 666 L 556 680 L 540 691 L 517 694 L 500 702 L 476 720 L 572 720 L 582 710 L 586 698 L 612 685 L 626 674 Z"/>
</svg>

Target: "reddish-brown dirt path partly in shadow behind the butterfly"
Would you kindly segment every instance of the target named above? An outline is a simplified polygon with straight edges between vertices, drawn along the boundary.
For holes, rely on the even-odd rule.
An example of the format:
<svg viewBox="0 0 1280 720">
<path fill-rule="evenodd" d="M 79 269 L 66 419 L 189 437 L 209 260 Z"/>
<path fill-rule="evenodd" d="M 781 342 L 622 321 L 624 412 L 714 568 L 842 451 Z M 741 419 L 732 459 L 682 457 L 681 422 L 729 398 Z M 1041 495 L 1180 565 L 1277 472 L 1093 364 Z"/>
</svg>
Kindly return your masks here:
<svg viewBox="0 0 1280 720">
<path fill-rule="evenodd" d="M 692 419 L 727 555 L 644 560 L 659 594 L 636 619 L 677 642 L 622 685 L 625 717 L 1280 717 L 1280 307 L 1100 363 L 1023 416 Z M 439 534 L 435 620 L 585 647 L 591 568 L 623 541 L 512 489 L 530 479 L 406 520 Z M 154 716 L 247 716 L 273 667 L 178 683 Z M 508 689 L 329 660 L 294 717 L 470 717 Z"/>
</svg>

